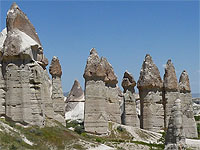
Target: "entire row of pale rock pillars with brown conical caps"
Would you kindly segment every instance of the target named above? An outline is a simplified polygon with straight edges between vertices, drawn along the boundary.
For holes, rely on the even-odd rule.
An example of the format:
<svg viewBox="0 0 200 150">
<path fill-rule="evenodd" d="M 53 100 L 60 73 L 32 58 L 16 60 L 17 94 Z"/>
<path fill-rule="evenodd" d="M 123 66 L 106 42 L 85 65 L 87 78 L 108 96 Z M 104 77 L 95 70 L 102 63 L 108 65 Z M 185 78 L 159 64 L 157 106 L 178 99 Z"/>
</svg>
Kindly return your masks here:
<svg viewBox="0 0 200 150">
<path fill-rule="evenodd" d="M 124 73 L 121 92 L 111 64 L 99 58 L 93 48 L 83 75 L 84 94 L 75 81 L 65 108 L 59 60 L 55 56 L 52 59 L 50 79 L 48 60 L 35 28 L 13 3 L 7 13 L 6 29 L 0 35 L 0 62 L 0 116 L 8 120 L 38 126 L 48 120 L 65 124 L 65 111 L 82 102 L 84 128 L 90 133 L 106 134 L 109 121 L 154 132 L 167 130 L 166 149 L 184 145 L 185 137 L 198 136 L 188 74 L 183 71 L 178 82 L 171 60 L 167 61 L 162 80 L 152 57 L 146 55 L 137 81 L 138 115 L 134 77 L 128 71 Z"/>
</svg>

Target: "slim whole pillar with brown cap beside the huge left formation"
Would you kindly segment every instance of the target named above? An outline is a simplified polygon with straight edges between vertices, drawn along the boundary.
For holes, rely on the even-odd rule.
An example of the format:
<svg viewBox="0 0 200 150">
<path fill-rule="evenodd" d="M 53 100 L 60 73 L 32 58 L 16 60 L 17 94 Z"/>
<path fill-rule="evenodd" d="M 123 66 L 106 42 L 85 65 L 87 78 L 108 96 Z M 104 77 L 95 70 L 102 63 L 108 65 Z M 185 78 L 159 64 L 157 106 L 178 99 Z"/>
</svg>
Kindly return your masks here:
<svg viewBox="0 0 200 150">
<path fill-rule="evenodd" d="M 59 59 L 56 56 L 51 61 L 49 72 L 52 75 L 51 98 L 53 100 L 54 119 L 65 125 L 65 103 L 61 84 L 62 69 Z"/>
</svg>

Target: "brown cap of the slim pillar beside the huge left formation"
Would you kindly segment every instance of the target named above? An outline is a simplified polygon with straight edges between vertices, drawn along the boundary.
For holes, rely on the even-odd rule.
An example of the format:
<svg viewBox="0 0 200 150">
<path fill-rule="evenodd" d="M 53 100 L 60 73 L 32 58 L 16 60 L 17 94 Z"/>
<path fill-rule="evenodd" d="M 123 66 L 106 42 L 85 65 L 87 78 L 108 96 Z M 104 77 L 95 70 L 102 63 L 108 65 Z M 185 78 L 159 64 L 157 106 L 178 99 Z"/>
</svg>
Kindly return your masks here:
<svg viewBox="0 0 200 150">
<path fill-rule="evenodd" d="M 62 69 L 58 57 L 54 56 L 49 67 L 50 74 L 55 77 L 61 77 Z"/>
</svg>

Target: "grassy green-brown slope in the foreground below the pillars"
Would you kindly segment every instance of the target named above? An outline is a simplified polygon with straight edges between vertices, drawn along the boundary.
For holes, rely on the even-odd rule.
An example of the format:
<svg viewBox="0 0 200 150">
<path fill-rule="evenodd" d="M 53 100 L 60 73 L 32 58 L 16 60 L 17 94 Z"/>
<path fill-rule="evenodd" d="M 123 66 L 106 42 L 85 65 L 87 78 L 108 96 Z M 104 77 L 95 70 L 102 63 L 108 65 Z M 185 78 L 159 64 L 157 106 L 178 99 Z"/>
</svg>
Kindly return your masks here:
<svg viewBox="0 0 200 150">
<path fill-rule="evenodd" d="M 111 131 L 109 136 L 99 137 L 86 133 L 79 135 L 60 124 L 55 127 L 38 128 L 33 126 L 29 128 L 23 128 L 13 123 L 6 122 L 5 120 L 1 121 L 20 131 L 20 133 L 25 135 L 25 137 L 27 137 L 29 141 L 33 142 L 34 145 L 31 146 L 25 143 L 20 134 L 17 132 L 12 131 L 10 133 L 6 133 L 0 130 L 0 149 L 85 150 L 87 149 L 87 146 L 85 145 L 88 143 L 90 143 L 90 147 L 96 147 L 99 144 L 106 144 L 119 150 L 123 150 L 123 147 L 120 146 L 120 144 L 123 143 L 143 145 L 147 148 L 149 147 L 151 150 L 163 149 L 162 144 L 148 144 L 145 142 L 133 141 L 134 137 L 126 132 L 126 130 L 120 128 Z M 0 126 L 0 129 L 3 129 L 3 127 Z"/>
</svg>

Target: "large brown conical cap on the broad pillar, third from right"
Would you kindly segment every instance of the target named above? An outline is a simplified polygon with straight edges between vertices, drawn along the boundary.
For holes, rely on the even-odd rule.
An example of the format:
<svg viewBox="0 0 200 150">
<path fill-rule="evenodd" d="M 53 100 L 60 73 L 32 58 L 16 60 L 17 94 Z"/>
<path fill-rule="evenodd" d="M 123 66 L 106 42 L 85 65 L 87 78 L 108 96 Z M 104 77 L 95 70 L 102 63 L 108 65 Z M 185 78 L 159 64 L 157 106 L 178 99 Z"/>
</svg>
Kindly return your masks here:
<svg viewBox="0 0 200 150">
<path fill-rule="evenodd" d="M 149 54 L 146 55 L 142 64 L 137 87 L 138 89 L 162 88 L 160 72 Z"/>
</svg>

